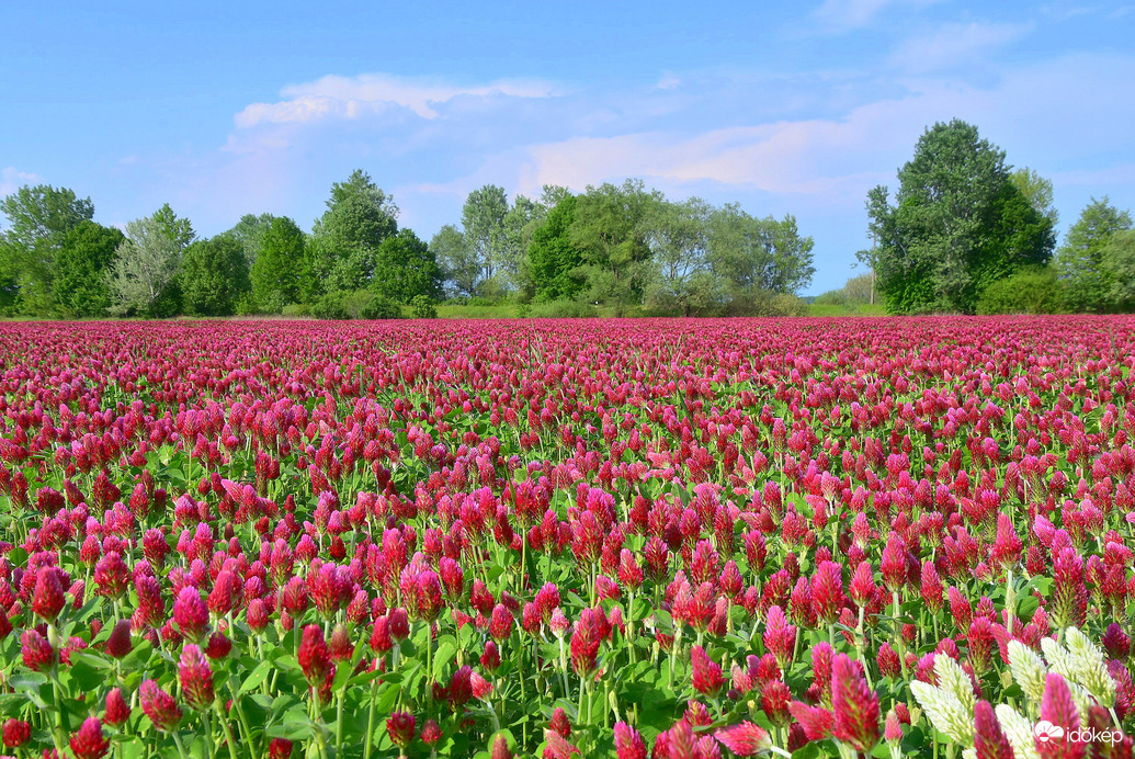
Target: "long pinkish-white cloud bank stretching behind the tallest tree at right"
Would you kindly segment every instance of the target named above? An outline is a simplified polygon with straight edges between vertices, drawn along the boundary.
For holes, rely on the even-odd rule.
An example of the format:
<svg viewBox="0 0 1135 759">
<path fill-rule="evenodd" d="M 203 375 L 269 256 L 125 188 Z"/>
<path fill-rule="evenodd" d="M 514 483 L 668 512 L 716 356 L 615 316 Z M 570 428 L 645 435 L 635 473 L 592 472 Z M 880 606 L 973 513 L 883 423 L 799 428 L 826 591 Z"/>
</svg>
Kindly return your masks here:
<svg viewBox="0 0 1135 759">
<path fill-rule="evenodd" d="M 1124 125 L 1135 119 L 1135 104 L 1115 92 L 1129 77 L 1135 77 L 1135 58 L 1078 56 L 1022 67 L 985 87 L 950 78 L 911 79 L 901 96 L 832 118 L 701 134 L 573 137 L 530 146 L 519 183 L 526 192 L 543 184 L 581 189 L 638 176 L 648 183 L 712 182 L 792 195 L 793 202 L 813 206 L 861 208 L 867 188 L 893 184 L 894 170 L 909 160 L 926 126 L 955 117 L 978 125 L 1015 165 L 1043 168 L 1036 165 L 1039 155 L 1083 165 L 1095 153 L 1124 150 Z M 1084 113 L 1094 117 L 1084 119 Z M 1126 176 L 1119 172 L 1113 179 L 1120 175 Z"/>
</svg>

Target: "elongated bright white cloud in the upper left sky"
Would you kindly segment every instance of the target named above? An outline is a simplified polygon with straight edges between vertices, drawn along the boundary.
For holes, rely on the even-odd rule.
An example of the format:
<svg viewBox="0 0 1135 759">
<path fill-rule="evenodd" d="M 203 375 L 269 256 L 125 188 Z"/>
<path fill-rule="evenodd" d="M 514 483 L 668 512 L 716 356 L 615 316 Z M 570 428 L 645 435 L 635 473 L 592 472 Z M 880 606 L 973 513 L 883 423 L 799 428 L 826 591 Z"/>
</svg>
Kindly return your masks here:
<svg viewBox="0 0 1135 759">
<path fill-rule="evenodd" d="M 236 115 L 238 128 L 260 124 L 305 124 L 321 119 L 355 119 L 402 108 L 423 119 L 438 116 L 435 107 L 460 96 L 549 98 L 555 88 L 539 81 L 499 79 L 488 84 L 460 86 L 429 78 L 387 74 L 325 76 L 316 82 L 284 87 L 283 100 L 251 103 Z"/>
</svg>

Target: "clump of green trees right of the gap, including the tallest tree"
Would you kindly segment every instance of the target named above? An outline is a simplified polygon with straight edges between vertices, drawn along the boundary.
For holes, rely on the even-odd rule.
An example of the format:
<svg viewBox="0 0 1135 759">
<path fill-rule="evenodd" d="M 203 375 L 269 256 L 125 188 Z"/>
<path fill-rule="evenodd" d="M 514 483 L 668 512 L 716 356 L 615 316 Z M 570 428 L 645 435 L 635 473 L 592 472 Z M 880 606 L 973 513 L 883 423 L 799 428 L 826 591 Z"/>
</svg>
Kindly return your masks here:
<svg viewBox="0 0 1135 759">
<path fill-rule="evenodd" d="M 857 255 L 890 313 L 1109 313 L 1135 310 L 1135 231 L 1092 199 L 1057 247 L 1052 183 L 1011 170 L 977 128 L 928 128 L 889 188 L 867 199 L 876 245 Z M 829 302 L 863 300 L 854 278 Z M 854 290 L 854 294 L 852 294 Z"/>
</svg>

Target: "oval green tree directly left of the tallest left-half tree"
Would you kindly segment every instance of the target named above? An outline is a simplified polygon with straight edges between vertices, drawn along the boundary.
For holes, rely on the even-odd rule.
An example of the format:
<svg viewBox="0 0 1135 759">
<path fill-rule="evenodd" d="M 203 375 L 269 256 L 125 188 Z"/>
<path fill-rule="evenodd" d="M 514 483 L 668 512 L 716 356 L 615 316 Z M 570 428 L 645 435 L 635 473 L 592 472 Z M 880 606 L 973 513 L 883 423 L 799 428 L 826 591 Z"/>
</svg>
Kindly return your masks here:
<svg viewBox="0 0 1135 759">
<path fill-rule="evenodd" d="M 289 303 L 306 302 L 313 289 L 303 231 L 287 217 L 274 217 L 260 242 L 260 253 L 250 272 L 252 300 L 268 313 L 279 313 Z"/>
</svg>

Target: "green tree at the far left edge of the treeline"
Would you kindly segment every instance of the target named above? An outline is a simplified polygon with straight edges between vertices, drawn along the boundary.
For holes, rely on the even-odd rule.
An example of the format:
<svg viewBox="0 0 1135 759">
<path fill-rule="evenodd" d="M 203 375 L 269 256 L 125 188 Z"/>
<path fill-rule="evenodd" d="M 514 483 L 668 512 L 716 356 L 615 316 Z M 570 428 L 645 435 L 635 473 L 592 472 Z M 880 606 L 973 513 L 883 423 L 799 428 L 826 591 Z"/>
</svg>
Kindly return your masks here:
<svg viewBox="0 0 1135 759">
<path fill-rule="evenodd" d="M 50 185 L 24 186 L 0 201 L 8 229 L 0 244 L 0 282 L 25 313 L 54 311 L 52 276 L 67 234 L 94 216 L 90 197 Z"/>
</svg>

